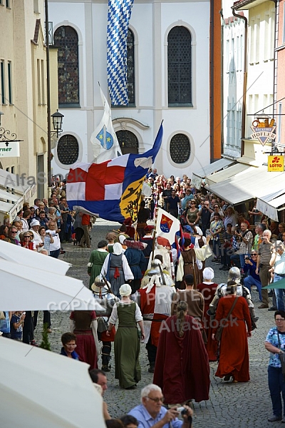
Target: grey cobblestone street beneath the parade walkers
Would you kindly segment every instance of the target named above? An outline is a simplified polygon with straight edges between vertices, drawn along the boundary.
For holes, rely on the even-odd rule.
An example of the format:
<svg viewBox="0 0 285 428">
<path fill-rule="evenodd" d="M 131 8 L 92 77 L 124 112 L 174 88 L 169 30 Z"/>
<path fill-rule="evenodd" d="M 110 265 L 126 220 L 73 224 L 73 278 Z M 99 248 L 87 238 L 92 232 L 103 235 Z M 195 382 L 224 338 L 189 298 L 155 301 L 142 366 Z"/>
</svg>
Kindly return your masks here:
<svg viewBox="0 0 285 428">
<path fill-rule="evenodd" d="M 105 238 L 105 234 L 118 228 L 118 223 L 107 222 L 98 219 L 92 230 L 92 249 L 97 248 L 98 241 Z M 66 254 L 62 260 L 72 263 L 68 275 L 83 280 L 88 285 L 87 263 L 90 249 L 65 244 Z M 219 265 L 210 261 L 215 271 L 215 282 L 226 282 L 227 272 L 219 271 Z M 211 362 L 211 387 L 208 402 L 194 404 L 194 427 L 232 427 L 232 428 L 263 428 L 268 427 L 267 418 L 271 416 L 271 400 L 267 386 L 267 365 L 269 352 L 264 348 L 264 340 L 269 329 L 274 325 L 274 312 L 257 309 L 258 293 L 252 292 L 259 322 L 257 330 L 254 330 L 249 338 L 249 363 L 251 380 L 245 384 L 227 384 L 222 379 L 214 377 L 217 363 Z M 69 314 L 56 312 L 51 315 L 52 333 L 49 335 L 52 350 L 60 352 L 61 335 L 69 330 Z M 41 321 L 38 322 L 36 340 L 41 341 Z M 113 352 L 112 352 L 113 355 Z M 140 389 L 152 382 L 152 374 L 147 372 L 147 354 L 145 345 L 141 346 L 140 363 L 142 367 L 142 380 L 136 390 L 127 391 L 118 387 L 118 381 L 114 379 L 114 370 L 108 373 L 108 390 L 105 392 L 105 401 L 113 417 L 119 417 L 127 413 L 140 402 Z M 114 360 L 112 360 L 114 367 Z M 99 360 L 100 367 L 100 360 Z"/>
</svg>

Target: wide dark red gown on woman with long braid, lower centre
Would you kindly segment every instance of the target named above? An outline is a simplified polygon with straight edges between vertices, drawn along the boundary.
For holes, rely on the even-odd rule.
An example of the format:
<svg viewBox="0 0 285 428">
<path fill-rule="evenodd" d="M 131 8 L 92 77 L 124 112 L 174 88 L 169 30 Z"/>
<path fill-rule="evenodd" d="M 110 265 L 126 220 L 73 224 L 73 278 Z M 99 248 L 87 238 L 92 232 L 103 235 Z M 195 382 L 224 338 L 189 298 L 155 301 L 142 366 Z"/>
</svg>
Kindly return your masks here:
<svg viewBox="0 0 285 428">
<path fill-rule="evenodd" d="M 184 335 L 177 332 L 177 317 L 162 325 L 153 383 L 162 388 L 167 404 L 209 399 L 209 360 L 197 322 L 185 316 Z"/>
</svg>

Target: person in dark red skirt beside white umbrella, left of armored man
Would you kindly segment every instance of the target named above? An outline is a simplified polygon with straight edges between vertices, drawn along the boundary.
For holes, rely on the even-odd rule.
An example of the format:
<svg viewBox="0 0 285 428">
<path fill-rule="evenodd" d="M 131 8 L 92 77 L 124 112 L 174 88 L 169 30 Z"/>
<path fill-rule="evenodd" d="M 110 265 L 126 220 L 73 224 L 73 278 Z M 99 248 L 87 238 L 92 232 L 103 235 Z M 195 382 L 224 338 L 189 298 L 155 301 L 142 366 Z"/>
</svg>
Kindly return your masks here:
<svg viewBox="0 0 285 428">
<path fill-rule="evenodd" d="M 71 332 L 76 335 L 76 352 L 79 360 L 90 365 L 89 370 L 98 369 L 97 320 L 94 310 L 75 310 L 71 312 Z"/>
</svg>

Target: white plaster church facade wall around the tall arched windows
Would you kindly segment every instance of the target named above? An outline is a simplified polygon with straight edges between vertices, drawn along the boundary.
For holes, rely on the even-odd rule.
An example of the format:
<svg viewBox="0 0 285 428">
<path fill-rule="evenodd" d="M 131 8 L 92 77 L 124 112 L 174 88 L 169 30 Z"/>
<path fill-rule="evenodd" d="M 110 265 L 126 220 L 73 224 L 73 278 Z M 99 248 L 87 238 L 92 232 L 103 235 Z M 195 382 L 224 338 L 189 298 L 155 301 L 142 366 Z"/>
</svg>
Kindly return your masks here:
<svg viewBox="0 0 285 428">
<path fill-rule="evenodd" d="M 102 117 L 103 110 L 98 91 L 98 81 L 107 96 L 106 76 L 106 28 L 108 6 L 105 2 L 87 2 L 84 4 L 68 1 L 49 3 L 49 20 L 53 28 L 63 25 L 64 21 L 81 33 L 80 78 L 81 109 L 61 109 L 64 114 L 63 131 L 78 135 L 83 143 L 82 161 L 92 161 L 90 135 Z M 59 19 L 58 19 L 59 16 Z M 160 18 L 157 27 L 157 17 Z M 195 32 L 196 58 L 193 57 L 193 108 L 168 108 L 167 106 L 167 49 L 165 37 L 167 29 L 177 22 Z M 154 28 L 155 26 L 155 28 Z M 165 175 L 181 175 L 186 170 L 189 175 L 201 165 L 209 163 L 209 1 L 173 2 L 157 4 L 146 1 L 135 3 L 130 19 L 135 39 L 135 108 L 113 108 L 114 118 L 133 118 L 149 128 L 134 126 L 134 132 L 140 135 L 143 148 L 147 151 L 155 139 L 159 123 L 164 119 L 164 139 L 162 150 L 157 156 L 157 167 Z M 160 40 L 155 39 L 157 29 Z M 89 39 L 89 37 L 91 39 Z M 161 63 L 156 61 L 156 52 L 160 46 Z M 193 52 L 193 49 L 192 49 Z M 90 65 L 91 64 L 91 65 Z M 161 72 L 157 72 L 161 70 Z M 130 127 L 128 127 L 130 130 Z M 169 141 L 175 133 L 190 136 L 192 156 L 185 165 L 173 165 L 170 162 Z M 205 141 L 205 142 L 204 142 Z M 204 142 L 203 146 L 201 144 Z M 61 168 L 53 160 L 53 173 Z M 66 173 L 66 171 L 65 171 Z"/>
</svg>

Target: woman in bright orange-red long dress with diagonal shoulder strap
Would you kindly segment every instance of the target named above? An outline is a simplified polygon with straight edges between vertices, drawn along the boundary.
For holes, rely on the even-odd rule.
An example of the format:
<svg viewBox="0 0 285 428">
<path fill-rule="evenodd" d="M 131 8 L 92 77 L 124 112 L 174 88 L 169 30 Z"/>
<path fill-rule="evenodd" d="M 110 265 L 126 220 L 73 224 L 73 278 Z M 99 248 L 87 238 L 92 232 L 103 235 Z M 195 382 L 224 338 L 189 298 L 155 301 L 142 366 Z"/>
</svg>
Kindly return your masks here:
<svg viewBox="0 0 285 428">
<path fill-rule="evenodd" d="M 228 283 L 229 295 L 221 297 L 216 312 L 217 326 L 221 320 L 225 320 L 237 297 L 237 287 Z M 222 322 L 221 325 L 225 324 Z M 247 327 L 246 327 L 247 325 Z M 212 339 L 217 328 L 213 329 Z M 224 377 L 233 382 L 249 381 L 249 347 L 247 337 L 252 336 L 252 321 L 249 315 L 249 307 L 244 297 L 237 297 L 234 310 L 229 317 L 227 325 L 222 331 L 219 351 L 219 365 L 216 376 Z"/>
</svg>

